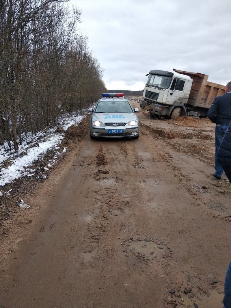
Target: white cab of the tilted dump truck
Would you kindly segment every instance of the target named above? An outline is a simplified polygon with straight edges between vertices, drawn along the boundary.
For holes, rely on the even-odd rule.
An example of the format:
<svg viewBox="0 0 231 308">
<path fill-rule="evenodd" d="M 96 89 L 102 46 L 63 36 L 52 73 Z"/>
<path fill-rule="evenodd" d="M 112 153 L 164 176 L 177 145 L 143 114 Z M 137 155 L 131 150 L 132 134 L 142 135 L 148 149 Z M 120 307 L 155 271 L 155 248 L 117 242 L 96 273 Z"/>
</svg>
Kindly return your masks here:
<svg viewBox="0 0 231 308">
<path fill-rule="evenodd" d="M 152 115 L 186 115 L 184 105 L 188 101 L 193 79 L 177 72 L 151 70 L 144 87 L 140 107 L 150 110 Z M 177 107 L 175 112 L 173 110 Z"/>
</svg>

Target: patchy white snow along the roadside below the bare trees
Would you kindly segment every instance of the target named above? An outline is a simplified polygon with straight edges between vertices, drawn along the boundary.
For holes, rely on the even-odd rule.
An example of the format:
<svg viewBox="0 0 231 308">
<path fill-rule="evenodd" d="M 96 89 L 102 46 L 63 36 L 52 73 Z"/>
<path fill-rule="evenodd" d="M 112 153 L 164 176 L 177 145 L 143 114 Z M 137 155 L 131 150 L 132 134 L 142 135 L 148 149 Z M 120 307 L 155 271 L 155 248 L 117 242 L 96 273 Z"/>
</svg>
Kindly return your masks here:
<svg viewBox="0 0 231 308">
<path fill-rule="evenodd" d="M 9 164 L 6 168 L 0 169 L 0 186 L 11 183 L 13 180 L 22 176 L 33 176 L 34 169 L 30 169 L 30 166 L 38 159 L 41 159 L 49 150 L 59 149 L 59 144 L 64 138 L 64 134 L 55 133 L 58 126 L 62 126 L 63 130 L 67 130 L 71 125 L 77 125 L 81 120 L 86 117 L 88 112 L 86 110 L 80 112 L 73 112 L 71 114 L 64 114 L 59 117 L 59 124 L 50 128 L 46 133 L 39 132 L 36 135 L 31 133 L 27 134 L 27 138 L 24 138 L 22 145 L 19 145 L 18 151 L 9 150 L 7 144 L 5 144 L 7 153 L 4 150 L 3 145 L 0 146 L 0 168 L 3 164 Z M 66 152 L 67 148 L 63 148 L 63 152 Z M 57 151 L 54 159 L 58 159 L 60 152 Z M 49 166 L 50 168 L 50 166 Z M 47 170 L 49 170 L 47 168 Z M 45 175 L 43 176 L 45 177 Z M 0 197 L 3 193 L 0 191 Z"/>
</svg>

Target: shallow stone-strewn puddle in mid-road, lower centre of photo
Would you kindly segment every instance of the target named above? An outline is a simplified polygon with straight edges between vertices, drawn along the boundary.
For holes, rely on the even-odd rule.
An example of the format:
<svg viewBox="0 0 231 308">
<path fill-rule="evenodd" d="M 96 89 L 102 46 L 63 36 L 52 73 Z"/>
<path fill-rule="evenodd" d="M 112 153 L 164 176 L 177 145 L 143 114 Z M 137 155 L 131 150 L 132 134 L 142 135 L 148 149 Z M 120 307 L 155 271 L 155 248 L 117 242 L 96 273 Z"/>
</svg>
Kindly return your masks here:
<svg viewBox="0 0 231 308">
<path fill-rule="evenodd" d="M 131 251 L 138 259 L 143 259 L 145 262 L 155 259 L 167 259 L 171 257 L 172 250 L 162 244 L 156 244 L 152 241 L 129 241 L 126 245 L 127 249 Z"/>
</svg>

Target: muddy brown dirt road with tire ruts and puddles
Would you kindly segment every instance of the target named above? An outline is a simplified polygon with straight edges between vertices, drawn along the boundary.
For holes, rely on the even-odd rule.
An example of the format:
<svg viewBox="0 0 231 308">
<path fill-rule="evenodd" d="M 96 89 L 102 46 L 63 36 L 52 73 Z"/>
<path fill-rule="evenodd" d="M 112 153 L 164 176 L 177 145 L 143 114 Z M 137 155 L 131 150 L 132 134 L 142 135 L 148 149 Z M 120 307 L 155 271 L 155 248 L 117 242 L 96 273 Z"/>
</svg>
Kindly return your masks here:
<svg viewBox="0 0 231 308">
<path fill-rule="evenodd" d="M 1 241 L 0 307 L 223 307 L 231 186 L 211 176 L 214 126 L 138 115 L 139 140 L 87 132 L 23 198 Z"/>
</svg>

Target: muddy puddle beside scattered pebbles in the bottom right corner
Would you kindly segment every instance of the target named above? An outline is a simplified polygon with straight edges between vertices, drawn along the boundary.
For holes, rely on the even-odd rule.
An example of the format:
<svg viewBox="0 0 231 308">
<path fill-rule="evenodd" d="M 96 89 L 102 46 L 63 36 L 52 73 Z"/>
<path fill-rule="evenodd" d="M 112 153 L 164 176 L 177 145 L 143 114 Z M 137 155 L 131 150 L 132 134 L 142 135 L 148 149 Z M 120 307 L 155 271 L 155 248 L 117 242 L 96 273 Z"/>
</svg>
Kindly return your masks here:
<svg viewBox="0 0 231 308">
<path fill-rule="evenodd" d="M 182 298 L 184 299 L 182 308 L 195 308 L 193 303 L 197 304 L 198 308 L 223 308 L 223 297 L 224 294 L 217 293 L 217 290 L 209 290 L 208 294 L 202 291 L 198 292 L 193 298 L 188 298 L 184 294 Z M 196 306 L 196 307 L 197 307 Z"/>
</svg>

